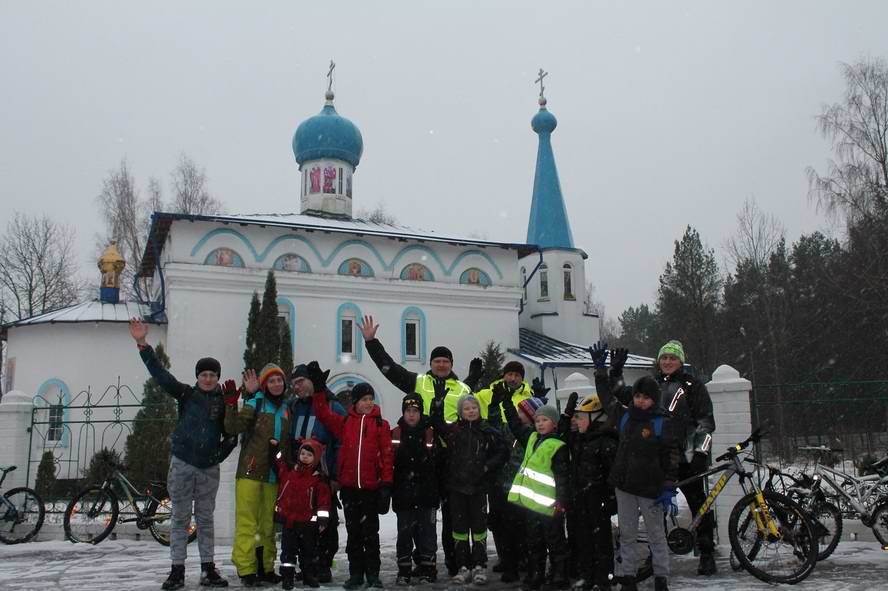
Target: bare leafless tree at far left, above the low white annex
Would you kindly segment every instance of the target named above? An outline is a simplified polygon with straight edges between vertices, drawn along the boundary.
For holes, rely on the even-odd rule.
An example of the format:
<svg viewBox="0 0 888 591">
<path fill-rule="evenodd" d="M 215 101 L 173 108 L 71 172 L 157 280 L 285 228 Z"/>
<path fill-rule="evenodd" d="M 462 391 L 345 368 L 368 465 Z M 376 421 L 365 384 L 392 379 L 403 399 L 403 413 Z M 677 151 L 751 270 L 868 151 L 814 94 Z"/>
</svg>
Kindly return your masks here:
<svg viewBox="0 0 888 591">
<path fill-rule="evenodd" d="M 0 301 L 7 320 L 69 306 L 84 284 L 77 277 L 74 229 L 49 217 L 15 213 L 0 239 Z"/>
</svg>

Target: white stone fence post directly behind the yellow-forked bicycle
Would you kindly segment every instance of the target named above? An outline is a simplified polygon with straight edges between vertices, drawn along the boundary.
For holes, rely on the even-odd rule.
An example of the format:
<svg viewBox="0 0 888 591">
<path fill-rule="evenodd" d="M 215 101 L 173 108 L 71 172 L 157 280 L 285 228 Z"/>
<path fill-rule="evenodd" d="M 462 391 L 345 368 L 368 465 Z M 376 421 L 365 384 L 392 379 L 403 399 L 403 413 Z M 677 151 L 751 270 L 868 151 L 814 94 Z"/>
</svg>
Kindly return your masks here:
<svg viewBox="0 0 888 591">
<path fill-rule="evenodd" d="M 712 398 L 712 409 L 715 414 L 715 433 L 712 437 L 712 455 L 715 458 L 735 443 L 749 437 L 752 432 L 749 406 L 752 382 L 741 378 L 740 373 L 733 367 L 721 365 L 713 372 L 712 381 L 706 384 L 706 388 Z M 720 477 L 721 474 L 710 476 L 710 487 Z M 740 480 L 735 476 L 715 502 L 718 538 L 722 543 L 728 541 L 728 519 L 731 517 L 731 509 L 742 496 Z"/>
</svg>

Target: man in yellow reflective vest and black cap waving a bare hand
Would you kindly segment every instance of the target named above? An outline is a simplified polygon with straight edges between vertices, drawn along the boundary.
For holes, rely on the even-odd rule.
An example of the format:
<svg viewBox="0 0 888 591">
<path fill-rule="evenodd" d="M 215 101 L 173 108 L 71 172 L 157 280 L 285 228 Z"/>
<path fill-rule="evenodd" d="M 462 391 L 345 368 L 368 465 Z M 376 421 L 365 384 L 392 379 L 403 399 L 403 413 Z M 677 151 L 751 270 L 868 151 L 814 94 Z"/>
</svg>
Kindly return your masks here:
<svg viewBox="0 0 888 591">
<path fill-rule="evenodd" d="M 391 358 L 379 339 L 376 338 L 376 332 L 379 325 L 373 322 L 372 316 L 364 316 L 360 326 L 361 334 L 364 337 L 364 344 L 367 352 L 370 354 L 373 363 L 382 372 L 382 375 L 392 383 L 393 386 L 404 392 L 405 394 L 419 394 L 422 398 L 423 413 L 431 414 L 432 401 L 436 394 L 444 397 L 444 420 L 452 423 L 457 419 L 457 401 L 464 394 L 471 394 L 472 388 L 459 381 L 459 378 L 453 373 L 453 353 L 447 347 L 438 346 L 432 349 L 429 355 L 429 371 L 424 374 L 418 374 L 409 369 L 395 363 Z M 469 365 L 470 383 L 475 383 L 481 374 L 481 360 L 472 359 Z M 442 452 L 446 453 L 442 449 Z M 446 471 L 442 470 L 442 473 Z M 441 486 L 442 491 L 446 490 L 445 486 Z M 444 548 L 444 562 L 450 576 L 456 574 L 453 561 L 453 535 L 450 527 L 450 507 L 447 495 L 441 497 L 441 547 Z"/>
</svg>

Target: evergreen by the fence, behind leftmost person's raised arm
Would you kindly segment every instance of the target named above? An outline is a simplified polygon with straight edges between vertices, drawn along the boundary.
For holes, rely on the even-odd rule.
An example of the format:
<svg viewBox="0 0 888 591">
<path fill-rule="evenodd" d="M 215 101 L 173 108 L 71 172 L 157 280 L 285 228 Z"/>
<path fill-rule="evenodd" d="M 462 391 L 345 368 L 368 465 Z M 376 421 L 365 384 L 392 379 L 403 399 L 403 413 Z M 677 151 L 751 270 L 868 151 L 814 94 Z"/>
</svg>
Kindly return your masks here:
<svg viewBox="0 0 888 591">
<path fill-rule="evenodd" d="M 169 368 L 170 359 L 158 345 L 158 361 Z M 145 382 L 142 408 L 133 419 L 126 438 L 127 477 L 140 490 L 150 480 L 166 480 L 170 469 L 171 436 L 176 427 L 178 409 L 175 399 L 160 389 L 154 378 Z"/>
</svg>

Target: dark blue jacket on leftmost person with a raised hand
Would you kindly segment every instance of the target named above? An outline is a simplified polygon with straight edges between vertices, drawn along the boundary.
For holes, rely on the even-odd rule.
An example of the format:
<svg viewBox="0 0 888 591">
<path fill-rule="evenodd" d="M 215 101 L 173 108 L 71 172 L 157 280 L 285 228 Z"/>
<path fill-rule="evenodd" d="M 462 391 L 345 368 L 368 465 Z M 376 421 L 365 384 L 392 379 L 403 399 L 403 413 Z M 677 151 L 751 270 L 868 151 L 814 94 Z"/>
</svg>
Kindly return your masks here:
<svg viewBox="0 0 888 591">
<path fill-rule="evenodd" d="M 161 365 L 150 346 L 139 351 L 148 373 L 164 392 L 179 403 L 179 420 L 173 431 L 173 455 L 196 468 L 210 468 L 225 459 L 225 401 L 222 388 L 204 392 L 183 384 Z"/>
</svg>

